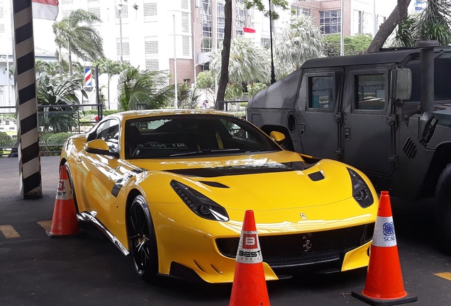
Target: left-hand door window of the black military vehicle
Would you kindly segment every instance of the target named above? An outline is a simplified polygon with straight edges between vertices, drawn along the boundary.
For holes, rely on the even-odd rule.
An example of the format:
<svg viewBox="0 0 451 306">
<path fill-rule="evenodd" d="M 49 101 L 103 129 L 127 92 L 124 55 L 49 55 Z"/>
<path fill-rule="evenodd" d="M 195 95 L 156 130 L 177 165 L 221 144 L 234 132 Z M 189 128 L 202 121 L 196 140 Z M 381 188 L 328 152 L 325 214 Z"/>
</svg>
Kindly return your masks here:
<svg viewBox="0 0 451 306">
<path fill-rule="evenodd" d="M 333 109 L 333 78 L 310 77 L 309 84 L 308 108 Z"/>
</svg>

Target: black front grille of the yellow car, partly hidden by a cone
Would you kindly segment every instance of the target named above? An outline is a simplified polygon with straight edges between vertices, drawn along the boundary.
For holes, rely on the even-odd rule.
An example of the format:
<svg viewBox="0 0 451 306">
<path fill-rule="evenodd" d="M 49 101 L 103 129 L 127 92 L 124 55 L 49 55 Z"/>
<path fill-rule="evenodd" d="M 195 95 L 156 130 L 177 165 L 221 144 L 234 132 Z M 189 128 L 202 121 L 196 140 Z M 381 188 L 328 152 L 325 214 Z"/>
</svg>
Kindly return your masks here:
<svg viewBox="0 0 451 306">
<path fill-rule="evenodd" d="M 272 268 L 333 261 L 372 239 L 374 223 L 306 234 L 259 237 L 263 261 Z M 309 240 L 309 243 L 308 243 Z M 235 257 L 238 239 L 216 239 L 221 253 Z"/>
</svg>

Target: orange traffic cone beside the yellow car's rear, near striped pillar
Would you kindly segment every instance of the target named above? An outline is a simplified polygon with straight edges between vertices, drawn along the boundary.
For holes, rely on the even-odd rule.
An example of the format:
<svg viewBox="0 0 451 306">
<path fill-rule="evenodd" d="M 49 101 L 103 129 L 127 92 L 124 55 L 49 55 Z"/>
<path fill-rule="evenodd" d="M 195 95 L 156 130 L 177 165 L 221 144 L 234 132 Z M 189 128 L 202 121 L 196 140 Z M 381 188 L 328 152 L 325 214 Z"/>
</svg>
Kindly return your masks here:
<svg viewBox="0 0 451 306">
<path fill-rule="evenodd" d="M 50 227 L 50 232 L 47 231 L 47 234 L 49 237 L 60 237 L 79 233 L 77 212 L 75 211 L 67 169 L 62 166 L 53 210 L 52 227 Z"/>
</svg>

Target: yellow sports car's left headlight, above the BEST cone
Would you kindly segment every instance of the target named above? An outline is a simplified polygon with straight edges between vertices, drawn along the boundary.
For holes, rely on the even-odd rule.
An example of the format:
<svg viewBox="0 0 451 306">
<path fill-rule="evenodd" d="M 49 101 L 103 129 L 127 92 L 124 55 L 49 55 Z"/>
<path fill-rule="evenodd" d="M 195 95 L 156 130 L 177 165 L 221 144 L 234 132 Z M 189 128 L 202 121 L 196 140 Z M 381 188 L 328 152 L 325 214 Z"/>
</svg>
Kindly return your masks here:
<svg viewBox="0 0 451 306">
<path fill-rule="evenodd" d="M 171 181 L 171 187 L 186 206 L 199 217 L 216 221 L 229 220 L 225 208 L 199 193 L 199 191 L 195 191 L 193 188 L 174 180 Z"/>
</svg>

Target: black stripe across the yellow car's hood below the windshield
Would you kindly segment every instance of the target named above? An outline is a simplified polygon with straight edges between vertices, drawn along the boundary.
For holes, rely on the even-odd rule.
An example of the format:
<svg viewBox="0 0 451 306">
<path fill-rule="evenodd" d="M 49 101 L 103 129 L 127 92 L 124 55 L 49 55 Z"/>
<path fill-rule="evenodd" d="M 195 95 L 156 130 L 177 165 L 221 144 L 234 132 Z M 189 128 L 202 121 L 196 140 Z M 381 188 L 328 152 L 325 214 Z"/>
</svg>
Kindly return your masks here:
<svg viewBox="0 0 451 306">
<path fill-rule="evenodd" d="M 304 162 L 286 162 L 282 164 L 270 162 L 265 164 L 264 166 L 255 166 L 255 165 L 223 166 L 214 168 L 174 169 L 167 171 L 184 176 L 199 176 L 213 178 L 218 176 L 236 176 L 245 174 L 265 174 L 275 172 L 302 171 L 310 168 L 311 166 L 313 166 L 313 164 L 306 164 Z"/>
</svg>

